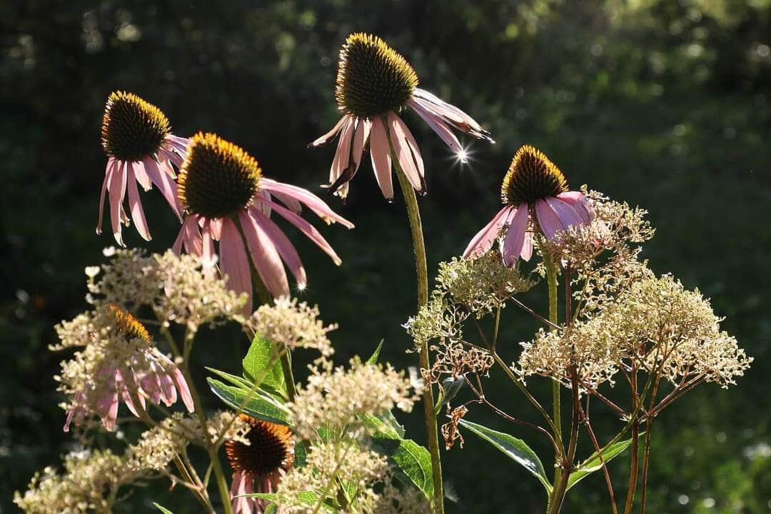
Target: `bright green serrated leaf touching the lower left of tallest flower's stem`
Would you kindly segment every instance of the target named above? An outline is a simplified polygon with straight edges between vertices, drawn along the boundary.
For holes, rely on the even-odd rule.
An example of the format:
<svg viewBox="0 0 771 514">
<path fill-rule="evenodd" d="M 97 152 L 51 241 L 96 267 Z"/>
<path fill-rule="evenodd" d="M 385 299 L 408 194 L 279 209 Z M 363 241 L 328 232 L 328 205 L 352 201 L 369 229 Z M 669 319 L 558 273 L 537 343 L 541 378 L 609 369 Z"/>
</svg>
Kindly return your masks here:
<svg viewBox="0 0 771 514">
<path fill-rule="evenodd" d="M 426 448 L 412 439 L 375 437 L 372 447 L 399 468 L 396 478 L 405 485 L 416 485 L 427 498 L 433 497 L 431 455 Z"/>
</svg>

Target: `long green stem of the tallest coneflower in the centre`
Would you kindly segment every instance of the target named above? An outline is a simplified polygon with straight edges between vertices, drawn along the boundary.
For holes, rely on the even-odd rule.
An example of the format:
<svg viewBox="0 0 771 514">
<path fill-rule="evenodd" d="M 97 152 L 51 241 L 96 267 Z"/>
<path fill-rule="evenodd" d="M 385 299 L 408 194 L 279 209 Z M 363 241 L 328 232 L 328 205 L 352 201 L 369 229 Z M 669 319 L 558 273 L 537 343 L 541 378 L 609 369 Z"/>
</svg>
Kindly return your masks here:
<svg viewBox="0 0 771 514">
<path fill-rule="evenodd" d="M 390 141 L 391 136 L 389 134 L 389 143 Z M 409 227 L 412 229 L 412 247 L 415 250 L 415 264 L 418 275 L 418 308 L 420 308 L 429 302 L 429 274 L 426 267 L 426 244 L 423 242 L 423 223 L 420 221 L 420 210 L 418 209 L 418 199 L 415 196 L 415 190 L 412 189 L 412 184 L 409 183 L 404 170 L 399 166 L 399 160 L 396 158 L 393 146 L 391 146 L 391 154 L 394 168 L 396 168 L 396 176 L 399 177 L 399 185 L 402 186 L 404 203 L 407 207 L 407 217 L 409 217 Z M 418 356 L 420 368 L 429 369 L 431 366 L 427 341 L 423 342 Z M 429 438 L 431 468 L 433 469 L 434 509 L 436 509 L 436 514 L 443 514 L 442 458 L 439 455 L 439 433 L 436 428 L 433 388 L 430 385 L 423 389 L 423 415 L 426 417 L 426 432 Z"/>
</svg>

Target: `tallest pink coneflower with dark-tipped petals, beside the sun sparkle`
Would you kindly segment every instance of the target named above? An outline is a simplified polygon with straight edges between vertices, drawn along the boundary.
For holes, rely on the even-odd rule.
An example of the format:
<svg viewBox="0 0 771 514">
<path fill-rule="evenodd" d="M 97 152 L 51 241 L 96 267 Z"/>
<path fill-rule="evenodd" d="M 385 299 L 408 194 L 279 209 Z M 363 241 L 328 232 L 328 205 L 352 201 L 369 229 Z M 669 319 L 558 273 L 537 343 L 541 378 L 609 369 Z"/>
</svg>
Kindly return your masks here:
<svg viewBox="0 0 771 514">
<path fill-rule="evenodd" d="M 406 107 L 423 118 L 462 160 L 465 151 L 450 127 L 493 142 L 471 116 L 419 89 L 418 76 L 409 62 L 376 35 L 358 32 L 345 40 L 340 50 L 335 99 L 344 113 L 342 118 L 309 146 L 321 146 L 340 134 L 329 188 L 344 200 L 348 182 L 359 170 L 368 145 L 372 169 L 386 200 L 393 199 L 391 149 L 412 186 L 419 193 L 425 192 L 423 157 L 412 133 L 397 116 Z"/>
</svg>

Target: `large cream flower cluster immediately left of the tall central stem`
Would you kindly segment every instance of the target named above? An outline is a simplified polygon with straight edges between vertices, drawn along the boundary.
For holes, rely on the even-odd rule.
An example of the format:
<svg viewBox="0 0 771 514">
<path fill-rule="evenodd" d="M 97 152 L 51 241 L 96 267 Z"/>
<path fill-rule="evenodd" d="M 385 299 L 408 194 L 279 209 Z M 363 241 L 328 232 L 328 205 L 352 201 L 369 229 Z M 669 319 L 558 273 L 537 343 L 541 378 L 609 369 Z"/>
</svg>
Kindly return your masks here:
<svg viewBox="0 0 771 514">
<path fill-rule="evenodd" d="M 311 366 L 311 375 L 295 401 L 288 404 L 291 424 L 299 438 L 314 439 L 318 429 L 355 431 L 359 418 L 396 407 L 410 412 L 416 391 L 403 372 L 352 358 L 350 368 L 333 368 L 329 361 Z"/>
</svg>

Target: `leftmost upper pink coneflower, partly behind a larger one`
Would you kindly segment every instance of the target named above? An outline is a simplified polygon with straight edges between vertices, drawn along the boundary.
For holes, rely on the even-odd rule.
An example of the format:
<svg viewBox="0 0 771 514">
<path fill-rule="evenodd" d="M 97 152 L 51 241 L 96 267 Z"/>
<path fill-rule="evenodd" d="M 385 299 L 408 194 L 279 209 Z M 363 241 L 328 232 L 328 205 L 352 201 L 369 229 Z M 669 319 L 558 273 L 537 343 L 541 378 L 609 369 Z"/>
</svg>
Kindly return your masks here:
<svg viewBox="0 0 771 514">
<path fill-rule="evenodd" d="M 102 233 L 104 197 L 109 193 L 113 236 L 118 244 L 126 246 L 120 225 L 129 224 L 129 216 L 123 209 L 128 190 L 131 219 L 140 236 L 150 240 L 136 183 L 145 191 L 155 184 L 182 220 L 174 182 L 176 174 L 171 164 L 178 168 L 182 163 L 187 139 L 171 133 L 169 119 L 160 109 L 130 92 L 111 93 L 102 119 L 102 146 L 107 154 L 107 168 L 99 197 L 96 233 Z"/>
</svg>

